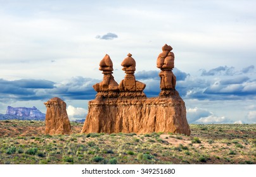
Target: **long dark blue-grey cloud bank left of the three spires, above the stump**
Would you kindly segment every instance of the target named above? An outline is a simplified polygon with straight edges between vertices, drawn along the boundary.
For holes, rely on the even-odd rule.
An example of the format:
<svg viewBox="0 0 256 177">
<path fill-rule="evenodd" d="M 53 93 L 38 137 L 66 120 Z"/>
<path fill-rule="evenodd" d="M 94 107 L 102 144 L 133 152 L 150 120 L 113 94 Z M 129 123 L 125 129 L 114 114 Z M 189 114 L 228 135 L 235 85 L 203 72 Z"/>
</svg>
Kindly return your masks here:
<svg viewBox="0 0 256 177">
<path fill-rule="evenodd" d="M 51 97 L 61 99 L 94 99 L 93 85 L 99 80 L 76 76 L 60 83 L 48 80 L 0 79 L 0 101 L 34 101 Z"/>
</svg>

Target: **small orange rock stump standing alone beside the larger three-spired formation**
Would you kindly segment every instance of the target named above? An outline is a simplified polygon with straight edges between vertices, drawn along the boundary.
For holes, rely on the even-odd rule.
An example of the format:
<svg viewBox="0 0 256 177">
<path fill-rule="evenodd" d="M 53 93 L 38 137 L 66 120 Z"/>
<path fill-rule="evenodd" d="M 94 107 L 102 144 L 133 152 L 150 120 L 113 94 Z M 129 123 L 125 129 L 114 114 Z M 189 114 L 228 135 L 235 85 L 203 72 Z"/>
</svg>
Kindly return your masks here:
<svg viewBox="0 0 256 177">
<path fill-rule="evenodd" d="M 46 134 L 65 135 L 71 133 L 70 121 L 66 111 L 66 103 L 58 97 L 54 97 L 46 105 Z"/>
</svg>

